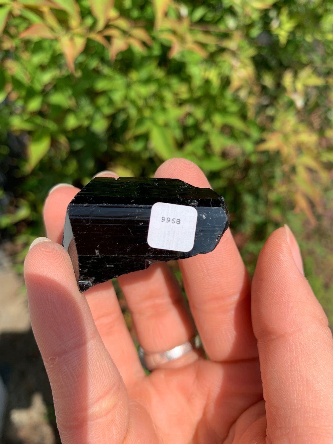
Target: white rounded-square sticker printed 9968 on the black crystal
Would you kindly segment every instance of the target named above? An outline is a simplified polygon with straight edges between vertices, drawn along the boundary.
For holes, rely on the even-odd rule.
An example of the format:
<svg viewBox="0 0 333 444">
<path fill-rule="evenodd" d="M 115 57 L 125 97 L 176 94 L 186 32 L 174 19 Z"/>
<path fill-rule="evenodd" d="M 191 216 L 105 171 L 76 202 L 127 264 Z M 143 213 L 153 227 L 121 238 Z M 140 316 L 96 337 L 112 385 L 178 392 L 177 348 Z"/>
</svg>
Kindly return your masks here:
<svg viewBox="0 0 333 444">
<path fill-rule="evenodd" d="M 198 211 L 193 206 L 156 202 L 151 207 L 148 245 L 187 252 L 194 246 Z"/>
</svg>

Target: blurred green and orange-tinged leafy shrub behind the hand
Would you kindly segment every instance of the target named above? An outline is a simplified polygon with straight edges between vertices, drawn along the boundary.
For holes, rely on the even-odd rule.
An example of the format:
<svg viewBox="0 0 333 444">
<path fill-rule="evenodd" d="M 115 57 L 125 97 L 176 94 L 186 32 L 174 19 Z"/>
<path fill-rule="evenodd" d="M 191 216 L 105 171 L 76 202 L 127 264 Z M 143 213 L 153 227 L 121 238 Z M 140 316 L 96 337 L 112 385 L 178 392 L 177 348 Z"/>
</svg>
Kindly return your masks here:
<svg viewBox="0 0 333 444">
<path fill-rule="evenodd" d="M 276 226 L 330 214 L 332 2 L 0 0 L 0 32 L 4 237 L 41 234 L 57 182 L 171 157 L 225 196 L 251 270 Z"/>
</svg>

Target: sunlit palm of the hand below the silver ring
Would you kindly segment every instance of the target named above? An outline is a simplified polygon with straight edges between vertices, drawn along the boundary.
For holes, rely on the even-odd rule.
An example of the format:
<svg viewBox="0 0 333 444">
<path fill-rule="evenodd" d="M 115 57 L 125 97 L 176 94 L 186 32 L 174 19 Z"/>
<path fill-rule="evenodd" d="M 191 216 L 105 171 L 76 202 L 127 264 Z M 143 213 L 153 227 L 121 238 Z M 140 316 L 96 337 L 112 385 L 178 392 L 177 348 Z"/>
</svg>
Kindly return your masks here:
<svg viewBox="0 0 333 444">
<path fill-rule="evenodd" d="M 159 442 L 159 437 L 166 444 L 224 442 L 239 416 L 262 399 L 258 370 L 254 359 L 228 364 L 199 360 L 154 371 L 129 389 L 133 416 L 138 405 L 140 417 L 145 411 L 143 442 Z M 143 428 L 134 434 L 142 439 Z"/>
</svg>

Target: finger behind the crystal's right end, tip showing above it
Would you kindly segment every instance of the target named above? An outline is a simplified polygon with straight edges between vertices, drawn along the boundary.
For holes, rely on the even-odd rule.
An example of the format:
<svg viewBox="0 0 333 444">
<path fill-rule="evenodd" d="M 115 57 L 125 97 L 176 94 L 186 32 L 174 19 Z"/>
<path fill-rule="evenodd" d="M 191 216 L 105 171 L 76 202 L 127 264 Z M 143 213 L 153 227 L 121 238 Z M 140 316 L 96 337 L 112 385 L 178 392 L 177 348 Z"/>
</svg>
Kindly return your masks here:
<svg viewBox="0 0 333 444">
<path fill-rule="evenodd" d="M 179 178 L 194 186 L 210 187 L 194 163 L 171 159 L 156 177 Z M 195 324 L 211 360 L 256 356 L 250 318 L 250 279 L 234 239 L 227 230 L 208 254 L 179 261 Z"/>
</svg>

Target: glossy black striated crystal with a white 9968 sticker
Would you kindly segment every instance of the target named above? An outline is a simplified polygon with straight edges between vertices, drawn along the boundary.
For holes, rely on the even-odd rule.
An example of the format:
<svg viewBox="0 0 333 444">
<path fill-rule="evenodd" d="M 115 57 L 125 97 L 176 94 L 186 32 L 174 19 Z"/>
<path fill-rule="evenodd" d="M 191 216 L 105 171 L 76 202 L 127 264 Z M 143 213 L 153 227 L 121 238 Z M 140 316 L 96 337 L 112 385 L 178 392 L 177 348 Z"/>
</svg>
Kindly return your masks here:
<svg viewBox="0 0 333 444">
<path fill-rule="evenodd" d="M 63 246 L 80 291 L 154 262 L 217 246 L 229 226 L 222 196 L 178 179 L 91 180 L 67 208 Z"/>
</svg>

